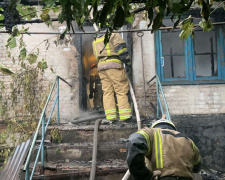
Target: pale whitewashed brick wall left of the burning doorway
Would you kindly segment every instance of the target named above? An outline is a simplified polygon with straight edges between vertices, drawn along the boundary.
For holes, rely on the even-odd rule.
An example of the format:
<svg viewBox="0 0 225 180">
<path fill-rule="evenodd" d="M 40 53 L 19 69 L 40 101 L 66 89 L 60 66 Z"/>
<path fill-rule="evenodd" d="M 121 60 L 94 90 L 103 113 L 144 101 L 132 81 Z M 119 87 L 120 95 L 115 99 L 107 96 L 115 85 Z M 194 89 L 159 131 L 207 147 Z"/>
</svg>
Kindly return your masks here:
<svg viewBox="0 0 225 180">
<path fill-rule="evenodd" d="M 30 32 L 58 32 L 59 27 L 62 25 L 54 22 L 53 27 L 47 27 L 45 24 L 32 24 L 27 26 L 30 27 Z M 12 70 L 17 71 L 19 69 L 17 59 L 15 64 L 13 64 L 12 60 L 7 57 L 5 48 L 7 38 L 7 34 L 3 34 L 3 36 L 0 37 L 0 62 L 10 67 Z M 46 48 L 45 43 L 41 43 L 45 39 L 49 39 L 50 42 L 48 49 Z M 54 44 L 56 39 L 56 35 L 24 35 L 24 41 L 27 44 L 28 52 L 35 47 L 39 48 L 40 55 L 38 61 L 44 58 L 48 64 L 48 69 L 42 73 L 42 77 L 40 77 L 39 81 L 39 83 L 44 87 L 42 91 L 49 90 L 49 85 L 54 82 L 56 76 L 62 77 L 72 85 L 72 88 L 70 88 L 68 85 L 60 81 L 59 88 L 60 119 L 71 120 L 79 112 L 77 51 L 73 45 L 69 45 L 68 47 L 65 45 L 56 46 Z M 34 52 L 36 52 L 36 50 L 34 50 Z M 18 50 L 13 50 L 13 54 L 17 57 Z M 53 73 L 50 68 L 52 68 L 55 73 Z M 11 82 L 10 76 L 0 74 L 0 79 L 7 85 Z M 9 86 L 6 88 L 9 90 Z M 49 110 L 50 109 L 48 109 L 48 111 Z"/>
</svg>

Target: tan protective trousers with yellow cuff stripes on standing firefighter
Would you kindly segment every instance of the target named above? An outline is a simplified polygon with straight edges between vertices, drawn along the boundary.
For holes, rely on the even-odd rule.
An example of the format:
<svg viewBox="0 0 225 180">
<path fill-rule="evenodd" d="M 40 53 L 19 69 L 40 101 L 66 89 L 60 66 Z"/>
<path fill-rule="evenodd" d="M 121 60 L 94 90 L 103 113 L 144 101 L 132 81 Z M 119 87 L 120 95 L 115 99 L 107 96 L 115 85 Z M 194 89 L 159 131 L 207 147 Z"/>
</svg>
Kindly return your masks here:
<svg viewBox="0 0 225 180">
<path fill-rule="evenodd" d="M 117 110 L 114 94 L 116 93 L 120 121 L 131 118 L 131 108 L 128 101 L 129 84 L 124 68 L 99 71 L 102 82 L 103 104 L 107 120 L 117 120 Z"/>
</svg>

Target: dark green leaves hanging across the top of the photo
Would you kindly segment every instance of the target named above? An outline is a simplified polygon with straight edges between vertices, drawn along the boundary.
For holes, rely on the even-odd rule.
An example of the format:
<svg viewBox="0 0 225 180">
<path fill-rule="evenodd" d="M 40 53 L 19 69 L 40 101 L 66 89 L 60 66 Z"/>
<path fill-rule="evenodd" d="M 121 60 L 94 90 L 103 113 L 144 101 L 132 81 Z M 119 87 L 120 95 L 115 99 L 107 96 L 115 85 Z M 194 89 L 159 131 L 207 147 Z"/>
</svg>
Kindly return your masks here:
<svg viewBox="0 0 225 180">
<path fill-rule="evenodd" d="M 114 0 L 114 1 L 104 1 L 104 0 L 44 0 L 46 8 L 52 8 L 53 10 L 61 7 L 61 12 L 58 15 L 60 23 L 66 22 L 67 28 L 70 30 L 70 26 L 73 20 L 80 26 L 83 30 L 83 24 L 85 20 L 91 21 L 93 24 L 100 24 L 100 29 L 107 26 L 106 33 L 108 34 L 105 38 L 104 43 L 107 43 L 111 33 L 115 29 L 119 29 L 123 26 L 125 21 L 130 23 L 133 22 L 134 14 L 131 13 L 133 10 L 132 5 L 139 3 L 132 3 L 131 0 Z M 58 2 L 60 5 L 56 5 Z M 205 23 L 202 21 L 200 27 L 203 27 L 204 31 L 211 29 L 210 22 L 210 8 L 213 5 L 213 1 L 208 0 L 143 0 L 142 6 L 144 10 L 148 12 L 149 24 L 152 24 L 152 33 L 158 30 L 162 26 L 162 21 L 165 15 L 171 14 L 171 17 L 177 17 L 174 23 L 174 28 L 179 24 L 181 15 L 186 13 L 193 4 L 197 4 L 201 9 L 201 16 L 205 19 Z M 222 3 L 224 5 L 224 3 Z M 102 7 L 102 8 L 99 8 Z M 55 11 L 54 11 L 55 12 Z M 93 19 L 90 19 L 90 12 L 93 12 Z M 156 15 L 154 15 L 156 12 Z M 42 19 L 49 25 L 49 17 L 42 14 Z M 171 19 L 172 19 L 171 18 Z M 187 23 L 188 24 L 188 23 Z M 184 29 L 181 32 L 180 37 L 186 38 L 188 35 L 193 34 L 194 27 L 189 23 L 189 28 Z"/>
</svg>

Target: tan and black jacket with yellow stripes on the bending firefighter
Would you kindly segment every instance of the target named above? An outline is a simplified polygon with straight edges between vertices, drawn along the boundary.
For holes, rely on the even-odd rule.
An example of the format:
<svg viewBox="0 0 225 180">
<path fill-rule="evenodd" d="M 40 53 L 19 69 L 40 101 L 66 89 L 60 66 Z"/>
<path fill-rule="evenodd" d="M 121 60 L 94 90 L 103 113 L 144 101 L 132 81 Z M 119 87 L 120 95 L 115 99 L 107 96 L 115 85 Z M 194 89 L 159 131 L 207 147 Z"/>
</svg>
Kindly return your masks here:
<svg viewBox="0 0 225 180">
<path fill-rule="evenodd" d="M 136 161 L 135 157 L 142 154 L 150 160 L 151 171 L 161 171 L 160 177 L 192 178 L 192 172 L 199 172 L 201 169 L 198 148 L 191 139 L 178 131 L 144 128 L 129 137 L 127 146 L 128 150 L 133 149 L 133 152 L 128 152 L 128 165 L 134 164 L 132 161 Z M 131 155 L 132 153 L 136 155 Z"/>
</svg>

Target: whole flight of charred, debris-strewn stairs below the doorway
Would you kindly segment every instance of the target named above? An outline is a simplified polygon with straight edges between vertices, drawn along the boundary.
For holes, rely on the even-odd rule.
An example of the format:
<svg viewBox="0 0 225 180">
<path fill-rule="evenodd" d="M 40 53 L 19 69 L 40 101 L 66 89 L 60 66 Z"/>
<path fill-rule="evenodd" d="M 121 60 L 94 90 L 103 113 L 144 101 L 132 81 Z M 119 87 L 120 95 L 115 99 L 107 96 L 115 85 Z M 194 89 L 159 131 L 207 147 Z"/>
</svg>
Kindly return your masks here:
<svg viewBox="0 0 225 180">
<path fill-rule="evenodd" d="M 54 128 L 59 129 L 62 134 L 61 143 L 52 142 L 50 138 L 50 132 Z M 49 126 L 45 140 L 45 172 L 40 174 L 40 163 L 38 163 L 33 179 L 89 179 L 94 128 L 94 122 Z M 126 138 L 136 131 L 136 123 L 121 127 L 121 125 L 111 125 L 106 120 L 102 121 L 98 131 L 96 179 L 122 179 L 127 171 Z M 38 142 L 37 140 L 37 146 Z M 34 148 L 31 168 L 36 153 L 37 148 Z M 25 179 L 22 168 L 20 179 Z"/>
</svg>

